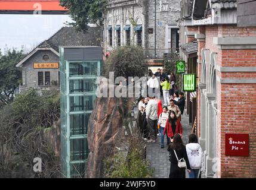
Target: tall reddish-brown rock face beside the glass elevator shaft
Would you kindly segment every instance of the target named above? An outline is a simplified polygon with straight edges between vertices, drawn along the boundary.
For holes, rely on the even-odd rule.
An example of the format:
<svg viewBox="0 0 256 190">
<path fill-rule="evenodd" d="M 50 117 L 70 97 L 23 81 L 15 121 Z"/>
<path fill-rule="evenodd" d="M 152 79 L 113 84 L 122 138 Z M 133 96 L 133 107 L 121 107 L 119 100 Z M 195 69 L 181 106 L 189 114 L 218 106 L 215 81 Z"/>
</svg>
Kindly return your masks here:
<svg viewBox="0 0 256 190">
<path fill-rule="evenodd" d="M 101 88 L 107 88 L 107 83 L 101 84 Z M 114 87 L 116 88 L 116 87 Z M 130 102 L 131 99 L 127 99 Z M 104 158 L 112 155 L 116 147 L 116 140 L 123 131 L 122 119 L 116 108 L 119 105 L 122 110 L 129 110 L 124 99 L 116 97 L 102 97 L 95 100 L 95 108 L 91 113 L 88 123 L 89 154 L 86 166 L 86 178 L 104 177 Z"/>
</svg>

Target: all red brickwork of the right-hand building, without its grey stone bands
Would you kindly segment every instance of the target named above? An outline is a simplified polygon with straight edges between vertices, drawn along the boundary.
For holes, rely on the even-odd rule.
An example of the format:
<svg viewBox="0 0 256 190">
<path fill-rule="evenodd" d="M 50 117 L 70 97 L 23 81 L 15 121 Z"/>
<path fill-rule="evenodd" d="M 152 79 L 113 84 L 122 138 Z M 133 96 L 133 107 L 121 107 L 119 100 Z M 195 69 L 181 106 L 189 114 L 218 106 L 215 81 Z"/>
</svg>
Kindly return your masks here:
<svg viewBox="0 0 256 190">
<path fill-rule="evenodd" d="M 200 29 L 203 32 L 203 29 Z M 217 52 L 220 66 L 256 66 L 256 49 L 220 50 L 213 37 L 256 36 L 256 28 L 206 26 L 205 48 Z M 199 52 L 203 43 L 199 43 Z M 256 78 L 256 72 L 217 72 L 219 78 Z M 217 83 L 217 157 L 220 178 L 256 178 L 256 84 Z M 198 99 L 200 109 L 200 97 Z M 200 115 L 200 110 L 198 110 Z M 198 120 L 200 125 L 200 119 Z M 225 156 L 225 134 L 249 134 L 249 157 Z"/>
</svg>

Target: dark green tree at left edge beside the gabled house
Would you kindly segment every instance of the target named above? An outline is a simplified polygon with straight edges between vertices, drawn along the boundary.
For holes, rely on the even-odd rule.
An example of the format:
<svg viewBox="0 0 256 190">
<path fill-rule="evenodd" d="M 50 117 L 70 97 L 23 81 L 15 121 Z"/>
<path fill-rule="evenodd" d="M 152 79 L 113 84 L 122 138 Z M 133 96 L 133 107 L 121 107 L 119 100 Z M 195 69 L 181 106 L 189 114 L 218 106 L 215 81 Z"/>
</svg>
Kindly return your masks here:
<svg viewBox="0 0 256 190">
<path fill-rule="evenodd" d="M 14 92 L 21 83 L 21 68 L 16 64 L 23 58 L 23 50 L 8 49 L 0 55 L 0 102 L 7 104 L 13 100 Z"/>
</svg>

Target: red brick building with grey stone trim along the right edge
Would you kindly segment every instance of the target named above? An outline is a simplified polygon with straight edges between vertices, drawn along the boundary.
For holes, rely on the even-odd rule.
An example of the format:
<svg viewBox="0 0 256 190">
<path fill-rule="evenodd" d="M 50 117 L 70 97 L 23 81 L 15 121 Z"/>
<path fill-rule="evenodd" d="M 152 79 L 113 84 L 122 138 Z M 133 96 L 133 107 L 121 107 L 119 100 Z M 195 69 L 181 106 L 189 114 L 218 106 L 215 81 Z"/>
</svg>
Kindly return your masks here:
<svg viewBox="0 0 256 190">
<path fill-rule="evenodd" d="M 207 178 L 256 177 L 256 1 L 183 0 L 180 42 L 198 43 L 198 136 Z M 183 58 L 186 56 L 182 55 Z M 249 156 L 227 156 L 226 134 L 249 134 Z"/>
</svg>

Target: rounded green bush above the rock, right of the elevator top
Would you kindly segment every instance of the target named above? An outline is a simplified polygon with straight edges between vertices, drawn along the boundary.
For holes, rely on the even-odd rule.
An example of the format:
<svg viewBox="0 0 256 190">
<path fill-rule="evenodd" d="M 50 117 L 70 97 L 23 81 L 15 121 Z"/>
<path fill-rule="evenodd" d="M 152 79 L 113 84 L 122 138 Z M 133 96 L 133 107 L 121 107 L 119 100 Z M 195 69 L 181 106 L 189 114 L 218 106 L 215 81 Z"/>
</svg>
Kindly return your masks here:
<svg viewBox="0 0 256 190">
<path fill-rule="evenodd" d="M 142 77 L 147 72 L 141 47 L 118 47 L 107 58 L 104 64 L 104 75 L 115 72 L 115 77 Z"/>
</svg>

